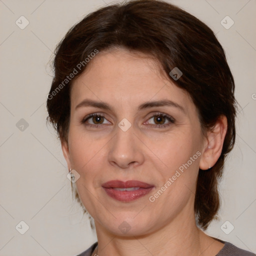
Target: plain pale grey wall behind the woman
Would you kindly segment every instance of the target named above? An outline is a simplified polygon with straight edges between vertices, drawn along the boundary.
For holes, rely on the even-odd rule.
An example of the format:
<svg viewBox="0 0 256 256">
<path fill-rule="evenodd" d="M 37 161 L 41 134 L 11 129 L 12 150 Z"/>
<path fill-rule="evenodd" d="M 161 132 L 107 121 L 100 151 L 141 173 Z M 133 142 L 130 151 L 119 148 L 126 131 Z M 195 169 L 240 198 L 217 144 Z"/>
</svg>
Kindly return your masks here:
<svg viewBox="0 0 256 256">
<path fill-rule="evenodd" d="M 71 256 L 96 241 L 88 217 L 71 199 L 60 143 L 45 124 L 45 102 L 52 79 L 49 60 L 56 43 L 85 14 L 110 2 L 0 0 L 0 255 Z M 237 140 L 220 184 L 220 219 L 212 222 L 207 233 L 256 252 L 256 1 L 169 2 L 216 33 L 240 104 Z M 24 29 L 15 23 L 25 24 L 21 15 L 29 21 Z M 229 29 L 220 23 L 226 15 L 234 21 Z M 222 22 L 231 24 L 230 19 Z M 19 233 L 24 228 L 21 220 L 29 226 L 24 234 Z M 224 224 L 227 231 L 234 226 L 229 234 L 221 229 L 226 220 L 230 222 Z"/>
</svg>

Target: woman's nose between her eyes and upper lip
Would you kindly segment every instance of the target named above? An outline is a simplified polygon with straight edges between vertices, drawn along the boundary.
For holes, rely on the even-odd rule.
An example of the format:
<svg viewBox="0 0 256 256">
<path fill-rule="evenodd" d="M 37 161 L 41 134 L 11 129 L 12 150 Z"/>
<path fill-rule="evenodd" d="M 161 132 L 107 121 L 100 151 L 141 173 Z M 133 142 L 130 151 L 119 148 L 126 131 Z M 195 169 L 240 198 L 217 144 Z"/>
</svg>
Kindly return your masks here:
<svg viewBox="0 0 256 256">
<path fill-rule="evenodd" d="M 134 133 L 132 126 L 126 131 L 117 127 L 116 134 L 108 146 L 108 161 L 118 168 L 135 167 L 144 161 L 143 143 Z"/>
</svg>

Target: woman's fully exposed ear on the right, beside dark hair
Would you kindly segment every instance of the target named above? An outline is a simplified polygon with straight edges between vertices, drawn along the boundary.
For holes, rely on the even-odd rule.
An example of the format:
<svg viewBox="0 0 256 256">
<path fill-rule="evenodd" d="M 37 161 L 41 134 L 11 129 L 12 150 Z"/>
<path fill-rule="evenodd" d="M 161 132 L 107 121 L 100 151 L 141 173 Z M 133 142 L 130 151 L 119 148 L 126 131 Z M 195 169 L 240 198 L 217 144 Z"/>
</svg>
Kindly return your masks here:
<svg viewBox="0 0 256 256">
<path fill-rule="evenodd" d="M 207 170 L 216 163 L 222 151 L 226 130 L 227 119 L 226 116 L 221 115 L 212 129 L 207 131 L 202 156 L 199 161 L 200 169 Z"/>
</svg>

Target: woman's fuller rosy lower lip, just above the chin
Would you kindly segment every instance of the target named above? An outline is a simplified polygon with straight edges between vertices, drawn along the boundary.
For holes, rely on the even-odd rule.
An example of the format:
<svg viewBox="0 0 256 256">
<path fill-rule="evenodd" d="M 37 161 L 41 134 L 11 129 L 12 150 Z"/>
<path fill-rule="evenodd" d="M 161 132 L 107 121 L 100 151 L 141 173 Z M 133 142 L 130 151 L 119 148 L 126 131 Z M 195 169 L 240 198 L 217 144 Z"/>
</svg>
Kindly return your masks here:
<svg viewBox="0 0 256 256">
<path fill-rule="evenodd" d="M 147 187 L 147 188 L 140 187 L 139 189 L 132 190 L 132 191 L 120 191 L 120 190 L 115 190 L 112 187 L 109 187 L 109 188 L 103 187 L 103 188 L 110 197 L 118 201 L 129 202 L 146 195 L 152 190 L 153 186 Z"/>
</svg>

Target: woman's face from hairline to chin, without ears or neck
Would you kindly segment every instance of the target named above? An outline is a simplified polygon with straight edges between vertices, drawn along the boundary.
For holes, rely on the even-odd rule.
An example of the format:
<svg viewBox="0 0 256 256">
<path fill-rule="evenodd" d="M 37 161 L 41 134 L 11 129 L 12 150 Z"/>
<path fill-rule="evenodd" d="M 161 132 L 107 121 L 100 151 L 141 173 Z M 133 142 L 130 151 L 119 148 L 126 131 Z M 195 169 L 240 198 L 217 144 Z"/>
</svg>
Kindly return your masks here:
<svg viewBox="0 0 256 256">
<path fill-rule="evenodd" d="M 205 148 L 188 94 L 160 75 L 155 60 L 140 54 L 116 49 L 90 60 L 73 82 L 68 147 L 62 143 L 96 228 L 118 235 L 191 222 Z M 138 180 L 151 188 L 103 188 L 109 180 Z"/>
</svg>

